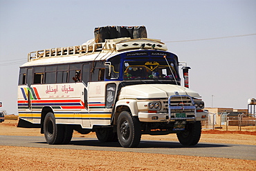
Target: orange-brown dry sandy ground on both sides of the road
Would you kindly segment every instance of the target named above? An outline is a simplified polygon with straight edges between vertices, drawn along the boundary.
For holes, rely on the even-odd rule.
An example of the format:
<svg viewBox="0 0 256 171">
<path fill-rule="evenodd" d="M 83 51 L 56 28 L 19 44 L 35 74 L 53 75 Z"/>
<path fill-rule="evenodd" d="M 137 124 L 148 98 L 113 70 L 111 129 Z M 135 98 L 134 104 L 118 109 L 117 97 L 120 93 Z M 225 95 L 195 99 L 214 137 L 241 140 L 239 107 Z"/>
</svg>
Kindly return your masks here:
<svg viewBox="0 0 256 171">
<path fill-rule="evenodd" d="M 44 136 L 39 129 L 16 128 L 17 120 L 0 123 L 0 135 Z M 200 142 L 256 145 L 255 127 L 203 130 Z M 94 133 L 74 137 L 95 137 Z M 142 139 L 178 141 L 175 134 Z M 256 161 L 138 152 L 64 150 L 0 145 L 0 170 L 256 170 Z"/>
</svg>

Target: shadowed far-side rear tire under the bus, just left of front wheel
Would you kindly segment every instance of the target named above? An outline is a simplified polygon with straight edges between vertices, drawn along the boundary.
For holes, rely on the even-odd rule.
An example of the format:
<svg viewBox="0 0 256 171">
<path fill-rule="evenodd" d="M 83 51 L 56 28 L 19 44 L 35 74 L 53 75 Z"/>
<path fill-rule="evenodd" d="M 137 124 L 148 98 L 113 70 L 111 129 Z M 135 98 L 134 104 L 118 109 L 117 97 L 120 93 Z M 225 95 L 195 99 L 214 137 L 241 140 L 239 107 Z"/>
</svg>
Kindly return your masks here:
<svg viewBox="0 0 256 171">
<path fill-rule="evenodd" d="M 113 128 L 100 128 L 95 132 L 98 140 L 102 143 L 118 141 L 118 136 L 116 132 L 113 132 Z"/>
</svg>

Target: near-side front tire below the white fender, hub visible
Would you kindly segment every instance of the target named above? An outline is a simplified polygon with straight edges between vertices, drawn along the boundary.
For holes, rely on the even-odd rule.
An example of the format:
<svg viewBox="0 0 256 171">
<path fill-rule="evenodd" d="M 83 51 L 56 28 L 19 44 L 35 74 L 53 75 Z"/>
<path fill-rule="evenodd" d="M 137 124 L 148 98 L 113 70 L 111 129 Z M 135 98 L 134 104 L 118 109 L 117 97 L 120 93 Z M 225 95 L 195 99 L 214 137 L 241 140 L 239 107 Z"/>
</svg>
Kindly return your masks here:
<svg viewBox="0 0 256 171">
<path fill-rule="evenodd" d="M 141 128 L 138 117 L 131 117 L 131 113 L 123 111 L 118 117 L 118 141 L 124 148 L 137 147 L 140 143 Z"/>
</svg>

